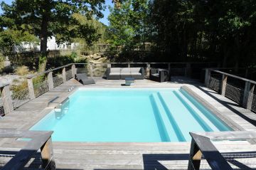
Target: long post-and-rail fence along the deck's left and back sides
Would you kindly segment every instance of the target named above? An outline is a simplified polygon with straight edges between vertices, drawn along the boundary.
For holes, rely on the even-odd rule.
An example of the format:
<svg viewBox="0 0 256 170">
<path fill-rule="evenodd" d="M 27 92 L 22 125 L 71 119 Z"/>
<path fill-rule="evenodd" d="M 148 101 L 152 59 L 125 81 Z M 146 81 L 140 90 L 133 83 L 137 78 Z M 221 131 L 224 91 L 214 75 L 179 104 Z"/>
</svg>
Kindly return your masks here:
<svg viewBox="0 0 256 170">
<path fill-rule="evenodd" d="M 203 68 L 216 65 L 215 63 L 70 63 L 59 68 L 47 70 L 27 77 L 28 86 L 23 90 L 14 92 L 9 90 L 9 85 L 0 85 L 0 112 L 7 114 L 20 107 L 29 100 L 53 90 L 75 77 L 76 73 L 86 73 L 90 77 L 105 77 L 107 68 L 132 68 L 144 67 L 146 77 L 149 77 L 151 68 L 166 68 L 172 75 L 187 77 L 200 76 Z M 199 78 L 198 76 L 198 78 Z"/>
</svg>

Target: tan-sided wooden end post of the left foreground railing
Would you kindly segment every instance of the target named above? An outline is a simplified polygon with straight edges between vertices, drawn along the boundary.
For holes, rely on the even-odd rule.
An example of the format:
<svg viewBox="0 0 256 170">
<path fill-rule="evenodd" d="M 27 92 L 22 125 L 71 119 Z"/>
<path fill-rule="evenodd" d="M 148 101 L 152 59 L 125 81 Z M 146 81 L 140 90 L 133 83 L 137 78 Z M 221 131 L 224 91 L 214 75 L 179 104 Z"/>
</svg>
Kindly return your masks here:
<svg viewBox="0 0 256 170">
<path fill-rule="evenodd" d="M 50 170 L 55 169 L 55 161 L 53 159 L 53 142 L 51 137 L 41 147 L 41 156 L 43 161 L 43 168 L 48 166 L 48 169 Z"/>
</svg>

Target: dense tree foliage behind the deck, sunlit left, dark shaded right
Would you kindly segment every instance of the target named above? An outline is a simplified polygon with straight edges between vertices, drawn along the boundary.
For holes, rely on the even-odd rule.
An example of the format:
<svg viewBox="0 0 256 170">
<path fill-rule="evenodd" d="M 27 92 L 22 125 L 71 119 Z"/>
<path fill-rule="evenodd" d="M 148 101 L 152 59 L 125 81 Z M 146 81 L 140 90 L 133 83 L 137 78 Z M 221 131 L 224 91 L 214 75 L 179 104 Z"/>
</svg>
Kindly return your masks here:
<svg viewBox="0 0 256 170">
<path fill-rule="evenodd" d="M 121 55 L 130 53 L 127 60 L 212 61 L 236 68 L 256 65 L 256 1 L 114 2 L 108 42 L 124 47 Z M 144 42 L 151 44 L 152 58 L 127 51 Z"/>
</svg>

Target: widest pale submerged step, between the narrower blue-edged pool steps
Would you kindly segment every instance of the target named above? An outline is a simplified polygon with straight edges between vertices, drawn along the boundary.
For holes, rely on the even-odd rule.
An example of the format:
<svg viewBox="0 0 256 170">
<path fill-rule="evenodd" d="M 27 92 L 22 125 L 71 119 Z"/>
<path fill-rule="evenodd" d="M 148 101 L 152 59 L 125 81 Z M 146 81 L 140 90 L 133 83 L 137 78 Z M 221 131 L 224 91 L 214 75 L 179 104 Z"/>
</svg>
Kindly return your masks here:
<svg viewBox="0 0 256 170">
<path fill-rule="evenodd" d="M 203 132 L 204 129 L 196 121 L 196 119 L 188 112 L 187 108 L 178 99 L 174 92 L 159 92 L 159 98 L 164 107 L 169 112 L 169 115 L 173 117 L 178 128 L 181 130 L 183 137 L 187 142 L 191 141 L 189 132 Z"/>
</svg>

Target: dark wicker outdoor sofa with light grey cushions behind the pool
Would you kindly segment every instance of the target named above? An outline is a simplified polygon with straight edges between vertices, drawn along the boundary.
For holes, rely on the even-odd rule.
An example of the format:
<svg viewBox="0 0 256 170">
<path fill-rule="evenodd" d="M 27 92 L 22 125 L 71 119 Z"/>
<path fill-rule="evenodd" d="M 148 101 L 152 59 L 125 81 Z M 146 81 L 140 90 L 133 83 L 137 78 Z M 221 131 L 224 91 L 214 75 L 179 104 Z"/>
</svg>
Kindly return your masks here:
<svg viewBox="0 0 256 170">
<path fill-rule="evenodd" d="M 107 80 L 119 80 L 125 78 L 134 78 L 143 80 L 145 75 L 144 68 L 107 68 Z"/>
</svg>

